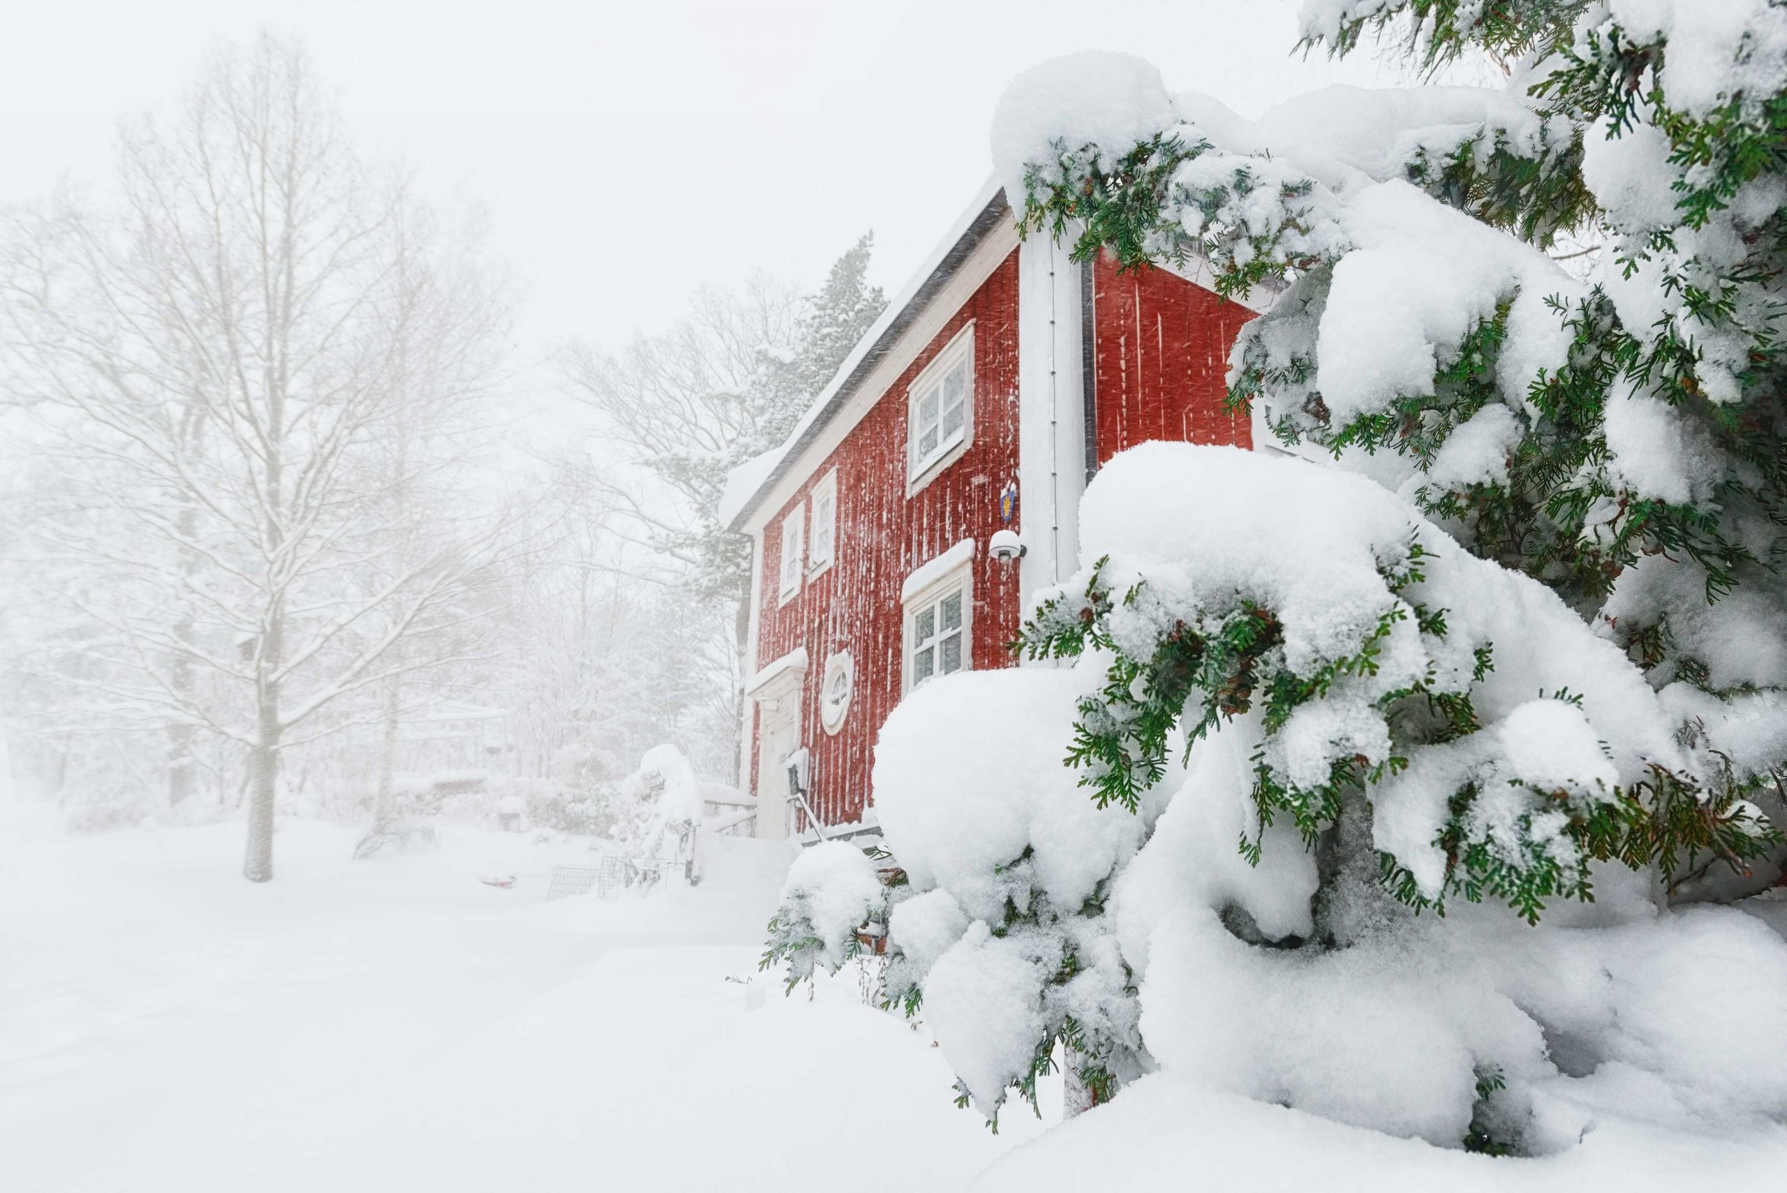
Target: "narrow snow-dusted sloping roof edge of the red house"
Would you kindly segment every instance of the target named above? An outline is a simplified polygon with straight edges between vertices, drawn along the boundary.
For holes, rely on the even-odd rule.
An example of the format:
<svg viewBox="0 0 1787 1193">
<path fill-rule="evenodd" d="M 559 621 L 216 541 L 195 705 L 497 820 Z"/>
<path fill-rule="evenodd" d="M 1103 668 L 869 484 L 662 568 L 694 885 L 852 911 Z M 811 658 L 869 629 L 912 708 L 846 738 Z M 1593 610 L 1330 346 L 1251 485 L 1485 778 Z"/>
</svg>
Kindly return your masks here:
<svg viewBox="0 0 1787 1193">
<path fill-rule="evenodd" d="M 743 529 L 745 518 L 763 502 L 768 491 L 788 475 L 801 452 L 818 438 L 833 418 L 856 396 L 858 388 L 874 371 L 876 364 L 899 343 L 899 338 L 911 327 L 913 320 L 929 305 L 931 298 L 949 282 L 956 268 L 969 259 L 969 254 L 997 227 L 999 220 L 1010 218 L 1004 189 L 999 179 L 988 179 L 974 202 L 956 218 L 949 234 L 938 241 L 936 248 L 926 255 L 924 264 L 911 280 L 894 296 L 888 309 L 874 321 L 856 348 L 845 357 L 831 384 L 826 386 L 813 405 L 806 409 L 795 423 L 788 439 L 763 455 L 745 461 L 726 477 L 726 491 L 720 495 L 720 521 L 731 530 Z"/>
</svg>

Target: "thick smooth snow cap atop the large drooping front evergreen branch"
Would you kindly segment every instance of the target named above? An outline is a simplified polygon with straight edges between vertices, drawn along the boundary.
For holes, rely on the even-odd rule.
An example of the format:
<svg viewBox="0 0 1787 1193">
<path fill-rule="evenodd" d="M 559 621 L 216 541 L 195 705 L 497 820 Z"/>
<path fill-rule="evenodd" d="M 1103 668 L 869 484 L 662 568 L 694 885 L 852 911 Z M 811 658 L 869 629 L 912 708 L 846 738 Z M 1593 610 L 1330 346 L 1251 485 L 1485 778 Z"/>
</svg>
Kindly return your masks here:
<svg viewBox="0 0 1787 1193">
<path fill-rule="evenodd" d="M 1145 575 L 1190 598 L 1238 593 L 1274 609 L 1287 661 L 1299 673 L 1360 648 L 1397 602 L 1380 566 L 1419 539 L 1426 579 L 1405 596 L 1444 609 L 1447 634 L 1417 639 L 1401 622 L 1372 688 L 1431 668 L 1442 691 L 1462 691 L 1471 686 L 1474 647 L 1503 643 L 1508 648 L 1494 654 L 1494 670 L 1472 689 L 1485 725 L 1567 688 L 1581 695 L 1623 782 L 1648 761 L 1692 770 L 1673 747 L 1674 723 L 1657 693 L 1614 643 L 1551 589 L 1471 555 L 1362 475 L 1242 448 L 1144 443 L 1099 471 L 1079 518 L 1086 559 L 1110 555 L 1124 575 Z"/>
</svg>

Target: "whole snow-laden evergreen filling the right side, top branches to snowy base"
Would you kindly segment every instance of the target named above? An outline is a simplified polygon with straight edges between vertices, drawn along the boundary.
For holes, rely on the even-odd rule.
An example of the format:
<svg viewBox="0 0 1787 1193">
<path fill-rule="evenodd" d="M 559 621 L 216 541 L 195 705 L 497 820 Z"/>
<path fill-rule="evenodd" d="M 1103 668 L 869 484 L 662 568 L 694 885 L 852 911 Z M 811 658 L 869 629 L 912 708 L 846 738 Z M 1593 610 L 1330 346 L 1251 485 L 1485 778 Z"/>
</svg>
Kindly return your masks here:
<svg viewBox="0 0 1787 1193">
<path fill-rule="evenodd" d="M 890 718 L 895 995 L 986 1113 L 1065 1041 L 1099 1095 L 1163 1068 L 1490 1152 L 1780 1116 L 1787 948 L 1685 904 L 1780 875 L 1787 9 L 1305 29 L 1508 88 L 1247 121 L 1078 55 L 1001 104 L 1029 234 L 1274 296 L 1229 396 L 1285 450 L 1115 459 L 1022 634 L 1069 668 Z"/>
</svg>

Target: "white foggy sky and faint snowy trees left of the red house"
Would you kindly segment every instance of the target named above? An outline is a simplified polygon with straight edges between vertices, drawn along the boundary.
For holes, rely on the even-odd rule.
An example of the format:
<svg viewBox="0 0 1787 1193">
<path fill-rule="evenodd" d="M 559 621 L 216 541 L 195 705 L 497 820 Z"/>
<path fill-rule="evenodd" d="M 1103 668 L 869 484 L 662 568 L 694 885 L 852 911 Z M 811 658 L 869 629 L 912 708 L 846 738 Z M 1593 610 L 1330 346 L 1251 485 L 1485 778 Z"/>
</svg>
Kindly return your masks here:
<svg viewBox="0 0 1787 1193">
<path fill-rule="evenodd" d="M 1376 79 L 1287 52 L 1296 7 L 9 13 L 18 789 L 95 829 L 247 814 L 264 879 L 275 809 L 377 848 L 504 800 L 613 830 L 654 745 L 738 782 L 726 471 L 979 189 L 1017 71 L 1170 41 L 1167 82 L 1244 114 Z M 256 170 L 291 163 L 295 252 L 252 214 Z M 288 291 L 307 323 L 281 323 Z"/>
</svg>

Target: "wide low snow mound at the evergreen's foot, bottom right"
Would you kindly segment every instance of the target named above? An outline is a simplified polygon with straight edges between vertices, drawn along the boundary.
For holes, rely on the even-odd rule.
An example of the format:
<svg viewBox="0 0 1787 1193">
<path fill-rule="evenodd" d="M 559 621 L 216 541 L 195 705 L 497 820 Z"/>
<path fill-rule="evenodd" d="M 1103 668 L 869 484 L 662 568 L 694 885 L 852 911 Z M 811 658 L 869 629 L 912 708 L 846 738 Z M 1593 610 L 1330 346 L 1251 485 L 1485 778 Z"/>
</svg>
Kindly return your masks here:
<svg viewBox="0 0 1787 1193">
<path fill-rule="evenodd" d="M 1687 1011 L 1708 980 L 1744 1013 Z M 1437 1145 L 1464 1138 L 1494 1070 L 1506 1088 L 1490 1107 L 1549 1154 L 1603 1118 L 1778 1120 L 1787 947 L 1751 916 L 1696 907 L 1596 930 L 1467 913 L 1281 952 L 1187 909 L 1154 934 L 1142 1032 L 1179 1077 Z"/>
</svg>

